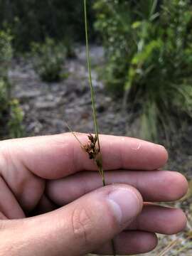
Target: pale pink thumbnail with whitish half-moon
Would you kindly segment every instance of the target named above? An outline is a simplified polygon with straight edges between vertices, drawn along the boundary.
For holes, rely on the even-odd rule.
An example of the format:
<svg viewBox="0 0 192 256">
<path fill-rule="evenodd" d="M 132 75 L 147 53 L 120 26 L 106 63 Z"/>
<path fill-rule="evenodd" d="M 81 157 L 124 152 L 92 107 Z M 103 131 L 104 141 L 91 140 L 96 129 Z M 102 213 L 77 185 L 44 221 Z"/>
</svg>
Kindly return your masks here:
<svg viewBox="0 0 192 256">
<path fill-rule="evenodd" d="M 117 188 L 112 191 L 109 195 L 109 202 L 121 225 L 137 217 L 141 210 L 139 196 L 129 188 Z"/>
</svg>

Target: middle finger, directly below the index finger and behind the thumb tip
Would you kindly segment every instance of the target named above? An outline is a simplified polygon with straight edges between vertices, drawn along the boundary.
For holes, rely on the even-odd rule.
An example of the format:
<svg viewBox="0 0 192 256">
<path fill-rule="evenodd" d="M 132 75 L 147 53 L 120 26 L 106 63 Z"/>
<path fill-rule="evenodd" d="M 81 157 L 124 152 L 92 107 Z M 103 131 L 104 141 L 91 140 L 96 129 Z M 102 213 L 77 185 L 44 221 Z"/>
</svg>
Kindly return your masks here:
<svg viewBox="0 0 192 256">
<path fill-rule="evenodd" d="M 186 178 L 174 171 L 105 171 L 105 180 L 108 184 L 127 183 L 134 186 L 147 202 L 175 201 L 188 189 Z M 46 193 L 53 202 L 63 206 L 101 186 L 99 174 L 87 171 L 49 181 Z"/>
</svg>

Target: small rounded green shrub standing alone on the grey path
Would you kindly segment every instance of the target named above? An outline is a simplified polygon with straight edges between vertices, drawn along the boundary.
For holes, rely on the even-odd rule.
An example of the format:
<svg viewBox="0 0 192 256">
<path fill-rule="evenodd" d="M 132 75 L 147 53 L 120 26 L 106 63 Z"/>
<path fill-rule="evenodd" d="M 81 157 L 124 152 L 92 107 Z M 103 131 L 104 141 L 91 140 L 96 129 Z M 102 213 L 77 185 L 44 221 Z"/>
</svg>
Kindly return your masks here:
<svg viewBox="0 0 192 256">
<path fill-rule="evenodd" d="M 63 64 L 65 61 L 65 47 L 57 45 L 51 38 L 46 42 L 33 43 L 31 46 L 34 69 L 43 81 L 56 82 L 62 77 Z"/>
</svg>

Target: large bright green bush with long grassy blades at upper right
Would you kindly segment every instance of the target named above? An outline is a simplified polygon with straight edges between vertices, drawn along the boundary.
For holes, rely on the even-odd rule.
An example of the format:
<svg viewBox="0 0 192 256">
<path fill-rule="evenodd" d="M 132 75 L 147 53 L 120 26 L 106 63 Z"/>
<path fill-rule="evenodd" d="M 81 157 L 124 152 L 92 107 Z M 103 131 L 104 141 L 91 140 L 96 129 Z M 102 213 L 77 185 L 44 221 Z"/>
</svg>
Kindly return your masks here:
<svg viewBox="0 0 192 256">
<path fill-rule="evenodd" d="M 142 137 L 175 132 L 192 111 L 191 2 L 97 0 L 95 9 L 107 85 L 139 112 Z"/>
</svg>

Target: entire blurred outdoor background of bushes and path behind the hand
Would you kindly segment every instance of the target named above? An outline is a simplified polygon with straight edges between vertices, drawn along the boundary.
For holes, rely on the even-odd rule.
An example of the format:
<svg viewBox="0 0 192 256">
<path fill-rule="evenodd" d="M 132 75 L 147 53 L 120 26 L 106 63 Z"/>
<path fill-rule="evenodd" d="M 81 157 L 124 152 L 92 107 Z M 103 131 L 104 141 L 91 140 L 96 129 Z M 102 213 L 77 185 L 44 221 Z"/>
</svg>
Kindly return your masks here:
<svg viewBox="0 0 192 256">
<path fill-rule="evenodd" d="M 192 255 L 192 1 L 88 5 L 100 133 L 164 144 L 190 185 L 186 232 L 149 255 Z M 82 0 L 0 0 L 1 139 L 92 132 L 87 78 Z"/>
</svg>

